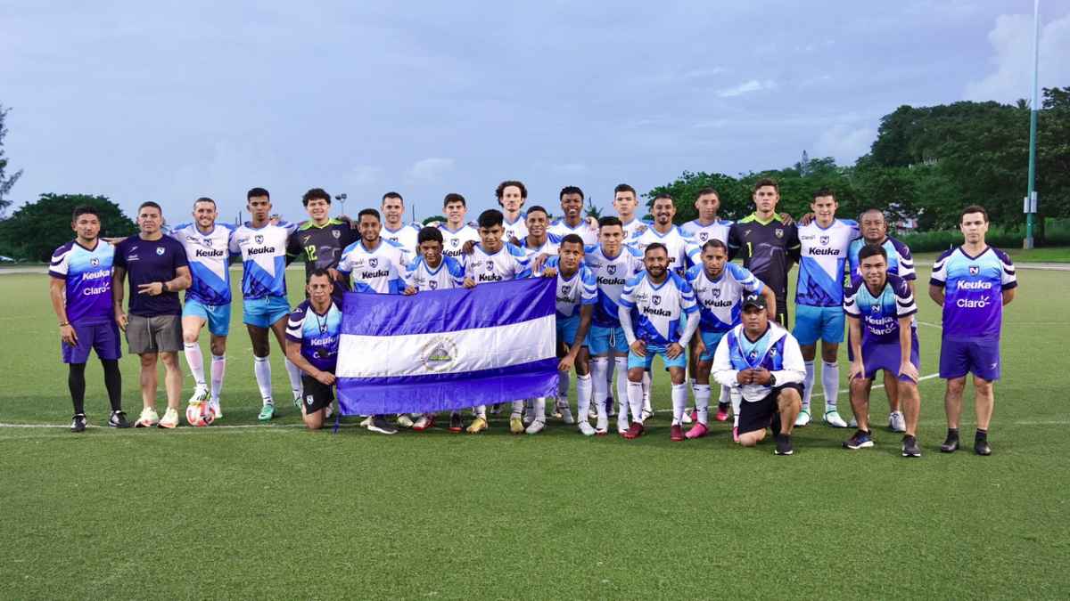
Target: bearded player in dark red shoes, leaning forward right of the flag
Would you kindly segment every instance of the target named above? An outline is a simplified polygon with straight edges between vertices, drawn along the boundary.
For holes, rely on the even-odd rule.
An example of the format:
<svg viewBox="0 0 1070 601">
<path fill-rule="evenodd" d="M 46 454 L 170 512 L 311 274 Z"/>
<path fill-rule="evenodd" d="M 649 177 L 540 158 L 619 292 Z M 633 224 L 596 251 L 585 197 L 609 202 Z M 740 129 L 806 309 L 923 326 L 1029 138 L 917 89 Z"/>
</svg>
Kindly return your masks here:
<svg viewBox="0 0 1070 601">
<path fill-rule="evenodd" d="M 631 415 L 643 412 L 643 377 L 651 370 L 655 355 L 661 355 L 672 380 L 672 428 L 670 438 L 683 441 L 681 422 L 687 404 L 684 352 L 699 329 L 699 306 L 687 281 L 674 273 L 666 246 L 655 242 L 643 251 L 644 273 L 633 277 L 621 294 L 617 315 L 628 341 L 628 405 Z M 681 332 L 681 317 L 687 325 Z M 624 437 L 638 438 L 643 422 L 633 419 Z"/>
</svg>

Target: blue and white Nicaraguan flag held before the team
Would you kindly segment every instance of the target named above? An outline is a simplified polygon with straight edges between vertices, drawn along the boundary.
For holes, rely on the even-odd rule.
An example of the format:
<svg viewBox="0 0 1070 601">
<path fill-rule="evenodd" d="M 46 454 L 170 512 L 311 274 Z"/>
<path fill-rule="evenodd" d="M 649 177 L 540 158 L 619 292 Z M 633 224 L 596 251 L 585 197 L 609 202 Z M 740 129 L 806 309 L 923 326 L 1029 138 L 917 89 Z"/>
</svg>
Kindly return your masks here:
<svg viewBox="0 0 1070 601">
<path fill-rule="evenodd" d="M 554 278 L 398 294 L 346 294 L 342 415 L 422 413 L 552 397 Z"/>
</svg>

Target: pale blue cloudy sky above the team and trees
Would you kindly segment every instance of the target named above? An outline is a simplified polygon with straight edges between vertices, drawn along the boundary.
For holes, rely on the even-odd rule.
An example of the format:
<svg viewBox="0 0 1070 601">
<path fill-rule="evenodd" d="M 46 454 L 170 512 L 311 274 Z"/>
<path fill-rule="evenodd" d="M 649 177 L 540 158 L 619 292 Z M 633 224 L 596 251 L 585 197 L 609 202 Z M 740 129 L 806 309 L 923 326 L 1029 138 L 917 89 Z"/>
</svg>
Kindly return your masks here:
<svg viewBox="0 0 1070 601">
<path fill-rule="evenodd" d="M 307 5 L 306 5 L 307 4 Z M 11 197 L 133 214 L 245 190 L 303 217 L 400 191 L 417 217 L 504 179 L 606 205 L 689 171 L 850 164 L 904 104 L 1028 97 L 1033 2 L 0 4 Z M 1070 4 L 1041 2 L 1041 86 L 1070 86 Z"/>
</svg>

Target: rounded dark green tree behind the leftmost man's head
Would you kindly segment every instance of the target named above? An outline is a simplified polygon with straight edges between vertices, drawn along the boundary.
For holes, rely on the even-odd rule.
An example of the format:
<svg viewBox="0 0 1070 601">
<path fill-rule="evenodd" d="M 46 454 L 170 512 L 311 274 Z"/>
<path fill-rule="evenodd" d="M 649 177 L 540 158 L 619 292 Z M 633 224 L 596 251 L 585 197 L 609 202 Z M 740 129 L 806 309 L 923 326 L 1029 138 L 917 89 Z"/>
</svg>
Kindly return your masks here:
<svg viewBox="0 0 1070 601">
<path fill-rule="evenodd" d="M 137 226 L 118 204 L 104 196 L 45 194 L 0 221 L 0 253 L 18 259 L 48 261 L 52 251 L 74 237 L 71 214 L 83 204 L 101 213 L 102 236 L 127 236 Z"/>
</svg>

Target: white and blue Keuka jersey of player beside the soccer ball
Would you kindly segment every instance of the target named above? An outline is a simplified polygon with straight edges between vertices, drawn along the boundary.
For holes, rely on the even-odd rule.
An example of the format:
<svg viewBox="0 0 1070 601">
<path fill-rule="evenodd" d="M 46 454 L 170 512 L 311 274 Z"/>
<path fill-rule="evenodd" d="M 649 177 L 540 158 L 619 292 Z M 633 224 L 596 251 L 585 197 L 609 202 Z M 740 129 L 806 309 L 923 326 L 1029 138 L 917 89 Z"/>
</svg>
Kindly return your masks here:
<svg viewBox="0 0 1070 601">
<path fill-rule="evenodd" d="M 230 304 L 230 238 L 234 226 L 216 222 L 212 231 L 202 233 L 194 224 L 182 224 L 169 235 L 182 243 L 189 260 L 193 284 L 186 299 L 204 305 Z"/>
</svg>

